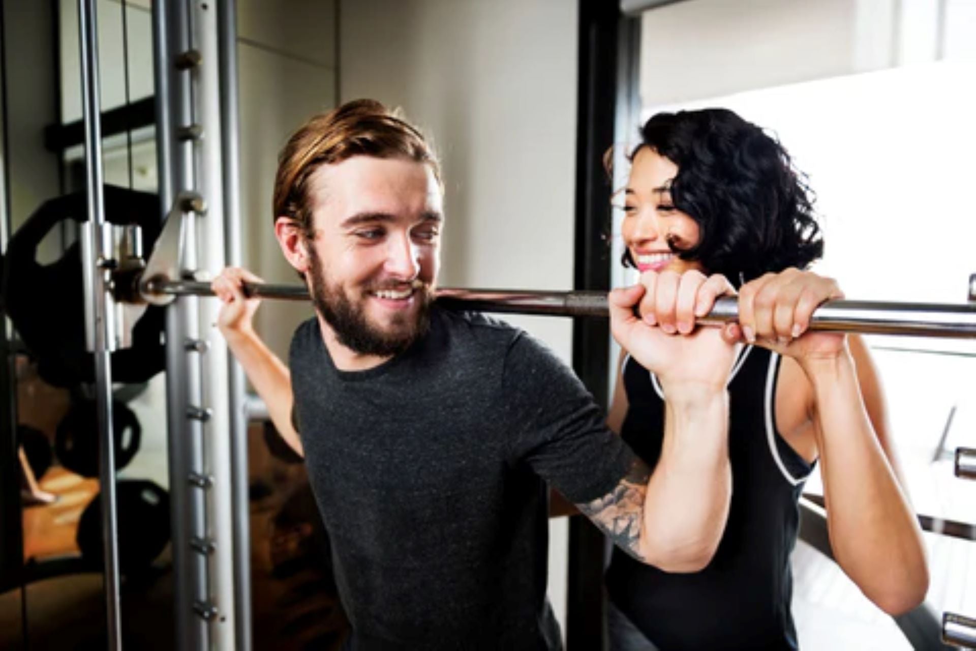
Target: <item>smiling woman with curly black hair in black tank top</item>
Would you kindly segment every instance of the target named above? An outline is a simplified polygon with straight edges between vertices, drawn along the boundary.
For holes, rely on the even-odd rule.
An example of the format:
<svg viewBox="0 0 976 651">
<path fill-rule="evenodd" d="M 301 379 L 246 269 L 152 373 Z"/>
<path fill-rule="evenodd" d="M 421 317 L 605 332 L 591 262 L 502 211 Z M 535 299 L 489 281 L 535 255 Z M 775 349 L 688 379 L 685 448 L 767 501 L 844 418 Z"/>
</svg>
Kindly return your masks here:
<svg viewBox="0 0 976 651">
<path fill-rule="evenodd" d="M 797 500 L 818 463 L 840 567 L 885 612 L 910 610 L 928 587 L 925 554 L 868 349 L 808 332 L 813 309 L 842 294 L 800 270 L 823 250 L 802 177 L 778 142 L 728 110 L 660 113 L 640 133 L 623 237 L 624 263 L 645 289 L 642 321 L 628 327 L 659 331 L 660 368 L 622 355 L 608 423 L 653 467 L 674 443 L 664 421 L 675 354 L 685 367 L 735 354 L 724 386 L 694 389 L 727 400 L 732 490 L 704 568 L 650 567 L 614 549 L 611 648 L 797 648 L 790 553 Z M 728 293 L 738 288 L 739 328 L 719 337 L 695 319 L 725 279 Z M 709 468 L 701 479 L 716 494 L 727 481 Z"/>
</svg>

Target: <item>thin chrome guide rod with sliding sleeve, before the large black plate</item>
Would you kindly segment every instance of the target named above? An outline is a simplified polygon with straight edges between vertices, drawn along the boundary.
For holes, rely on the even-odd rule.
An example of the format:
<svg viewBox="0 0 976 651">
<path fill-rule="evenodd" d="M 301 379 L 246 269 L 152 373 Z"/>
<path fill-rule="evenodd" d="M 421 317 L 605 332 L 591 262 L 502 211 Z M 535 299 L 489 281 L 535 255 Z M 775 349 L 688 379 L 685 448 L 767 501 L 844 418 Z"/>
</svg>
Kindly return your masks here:
<svg viewBox="0 0 976 651">
<path fill-rule="evenodd" d="M 88 189 L 88 222 L 82 234 L 82 277 L 85 288 L 85 333 L 95 354 L 98 405 L 99 483 L 102 493 L 102 560 L 104 563 L 105 614 L 109 649 L 122 648 L 119 613 L 118 531 L 116 522 L 114 436 L 112 435 L 111 351 L 115 345 L 111 287 L 113 245 L 111 226 L 105 224 L 102 194 L 102 103 L 99 80 L 99 30 L 95 0 L 78 0 L 81 50 L 81 95 L 85 119 L 85 181 Z"/>
</svg>

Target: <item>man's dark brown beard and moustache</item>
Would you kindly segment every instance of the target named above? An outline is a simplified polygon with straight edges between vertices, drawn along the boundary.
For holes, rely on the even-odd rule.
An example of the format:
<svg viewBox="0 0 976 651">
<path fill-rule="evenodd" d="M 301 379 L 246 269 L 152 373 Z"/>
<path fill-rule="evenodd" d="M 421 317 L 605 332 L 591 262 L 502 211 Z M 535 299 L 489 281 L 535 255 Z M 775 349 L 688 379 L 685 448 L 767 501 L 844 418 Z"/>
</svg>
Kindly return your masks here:
<svg viewBox="0 0 976 651">
<path fill-rule="evenodd" d="M 362 355 L 388 357 L 403 352 L 427 334 L 430 327 L 430 304 L 433 298 L 429 285 L 414 290 L 417 309 L 411 314 L 395 314 L 390 319 L 391 331 L 375 327 L 366 316 L 363 302 L 353 303 L 340 286 L 330 286 L 322 273 L 322 262 L 313 247 L 308 251 L 311 273 L 311 298 L 315 309 L 328 323 L 336 339 L 343 346 Z M 399 284 L 402 287 L 402 283 Z M 373 292 L 383 286 L 364 288 Z"/>
</svg>

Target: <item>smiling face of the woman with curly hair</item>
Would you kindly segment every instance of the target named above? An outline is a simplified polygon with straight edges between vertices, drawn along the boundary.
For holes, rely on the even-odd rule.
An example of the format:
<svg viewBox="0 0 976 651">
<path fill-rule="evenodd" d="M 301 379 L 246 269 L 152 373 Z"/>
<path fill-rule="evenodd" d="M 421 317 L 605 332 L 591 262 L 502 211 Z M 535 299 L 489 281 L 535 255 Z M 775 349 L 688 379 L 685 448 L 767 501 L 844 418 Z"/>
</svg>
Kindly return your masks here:
<svg viewBox="0 0 976 651">
<path fill-rule="evenodd" d="M 677 166 L 648 146 L 640 147 L 630 166 L 630 180 L 624 189 L 624 244 L 637 269 L 682 272 L 701 270 L 701 264 L 674 255 L 698 244 L 699 229 L 671 202 L 671 182 Z"/>
</svg>

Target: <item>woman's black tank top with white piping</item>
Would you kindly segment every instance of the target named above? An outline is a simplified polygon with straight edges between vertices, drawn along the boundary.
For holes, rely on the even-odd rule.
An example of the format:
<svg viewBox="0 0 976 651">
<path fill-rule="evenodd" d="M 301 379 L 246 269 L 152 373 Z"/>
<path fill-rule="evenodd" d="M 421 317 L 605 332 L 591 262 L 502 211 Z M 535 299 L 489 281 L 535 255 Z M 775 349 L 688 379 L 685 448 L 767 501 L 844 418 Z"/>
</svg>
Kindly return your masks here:
<svg viewBox="0 0 976 651">
<path fill-rule="evenodd" d="M 812 467 L 776 430 L 779 355 L 746 346 L 729 390 L 732 502 L 712 562 L 671 574 L 614 549 L 606 585 L 611 600 L 659 648 L 796 649 L 790 554 L 797 500 Z M 621 434 L 651 468 L 661 455 L 665 405 L 656 377 L 624 363 L 630 402 Z"/>
</svg>

